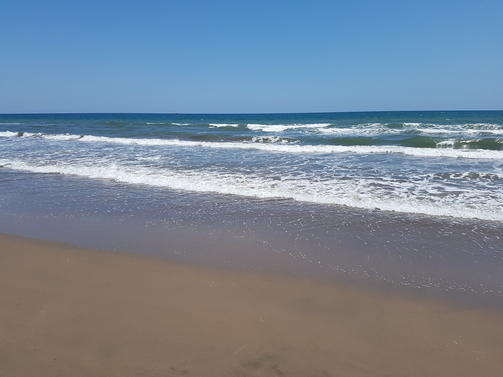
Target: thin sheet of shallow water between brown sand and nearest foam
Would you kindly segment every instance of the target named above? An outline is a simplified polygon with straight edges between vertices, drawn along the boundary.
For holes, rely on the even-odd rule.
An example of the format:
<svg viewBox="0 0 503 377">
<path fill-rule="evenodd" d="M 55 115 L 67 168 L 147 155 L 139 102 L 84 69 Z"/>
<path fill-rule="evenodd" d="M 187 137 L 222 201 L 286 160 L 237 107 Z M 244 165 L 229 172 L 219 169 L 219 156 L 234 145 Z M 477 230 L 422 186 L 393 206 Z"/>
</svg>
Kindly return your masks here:
<svg viewBox="0 0 503 377">
<path fill-rule="evenodd" d="M 501 307 L 499 222 L 4 170 L 2 232 Z M 35 183 L 35 184 L 34 184 Z"/>
</svg>

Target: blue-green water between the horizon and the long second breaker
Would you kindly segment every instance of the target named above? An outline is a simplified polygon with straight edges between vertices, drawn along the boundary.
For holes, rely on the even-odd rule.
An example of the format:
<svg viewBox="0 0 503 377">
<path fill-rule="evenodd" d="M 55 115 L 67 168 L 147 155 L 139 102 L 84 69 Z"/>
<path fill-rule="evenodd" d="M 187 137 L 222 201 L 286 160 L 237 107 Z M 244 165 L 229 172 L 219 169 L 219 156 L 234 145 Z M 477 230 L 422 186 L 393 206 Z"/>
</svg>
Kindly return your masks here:
<svg viewBox="0 0 503 377">
<path fill-rule="evenodd" d="M 327 145 L 503 148 L 503 112 L 359 112 L 309 114 L 0 115 L 4 128 L 49 134 L 179 138 Z M 4 131 L 4 130 L 2 130 Z M 17 131 L 17 130 L 15 130 Z M 280 139 L 280 140 L 277 140 Z"/>
</svg>

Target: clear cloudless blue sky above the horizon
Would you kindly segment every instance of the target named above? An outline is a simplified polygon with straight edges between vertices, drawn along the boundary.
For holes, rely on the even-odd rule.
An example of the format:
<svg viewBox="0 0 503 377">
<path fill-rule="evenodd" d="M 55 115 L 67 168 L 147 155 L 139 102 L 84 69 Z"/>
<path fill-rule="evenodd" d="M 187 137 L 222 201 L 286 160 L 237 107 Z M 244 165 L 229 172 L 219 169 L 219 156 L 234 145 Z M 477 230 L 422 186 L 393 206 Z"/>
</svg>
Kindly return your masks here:
<svg viewBox="0 0 503 377">
<path fill-rule="evenodd" d="M 0 113 L 503 110 L 503 1 L 0 3 Z"/>
</svg>

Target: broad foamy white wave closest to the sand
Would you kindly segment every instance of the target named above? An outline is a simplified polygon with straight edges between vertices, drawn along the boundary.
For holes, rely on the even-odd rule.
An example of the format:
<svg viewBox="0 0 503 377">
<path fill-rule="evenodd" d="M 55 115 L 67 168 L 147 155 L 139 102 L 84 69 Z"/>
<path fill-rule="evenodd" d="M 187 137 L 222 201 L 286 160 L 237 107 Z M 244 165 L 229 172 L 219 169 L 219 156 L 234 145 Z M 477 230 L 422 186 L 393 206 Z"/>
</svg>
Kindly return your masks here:
<svg viewBox="0 0 503 377">
<path fill-rule="evenodd" d="M 38 173 L 72 174 L 90 178 L 112 179 L 118 182 L 169 187 L 174 190 L 232 194 L 266 199 L 293 199 L 299 202 L 344 205 L 363 209 L 478 218 L 482 220 L 503 220 L 503 208 L 494 201 L 487 203 L 463 203 L 457 196 L 447 199 L 433 196 L 422 200 L 421 196 L 404 191 L 395 197 L 389 194 L 389 186 L 379 187 L 369 184 L 363 177 L 348 177 L 343 181 L 313 182 L 305 179 L 278 180 L 271 177 L 247 176 L 237 173 L 218 174 L 194 170 L 152 170 L 147 167 L 118 166 L 117 164 L 76 166 L 70 164 L 40 165 L 14 159 L 2 159 L 4 167 Z M 422 181 L 421 181 L 422 182 Z M 420 184 L 421 184 L 420 182 Z M 399 184 L 399 182 L 391 182 Z M 358 190 L 354 188 L 358 187 Z M 479 193 L 480 194 L 480 193 Z M 479 200 L 484 197 L 479 195 Z M 485 207 L 485 208 L 484 208 Z"/>
</svg>

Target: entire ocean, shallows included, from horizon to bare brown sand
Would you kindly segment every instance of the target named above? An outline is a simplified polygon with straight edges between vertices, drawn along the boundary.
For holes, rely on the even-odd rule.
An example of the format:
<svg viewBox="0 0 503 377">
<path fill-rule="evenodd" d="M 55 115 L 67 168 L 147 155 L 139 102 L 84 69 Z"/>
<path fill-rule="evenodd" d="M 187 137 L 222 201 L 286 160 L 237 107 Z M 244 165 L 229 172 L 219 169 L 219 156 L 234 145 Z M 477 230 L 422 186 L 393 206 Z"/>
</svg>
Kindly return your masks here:
<svg viewBox="0 0 503 377">
<path fill-rule="evenodd" d="M 4 114 L 0 166 L 7 233 L 501 298 L 503 111 Z"/>
</svg>

